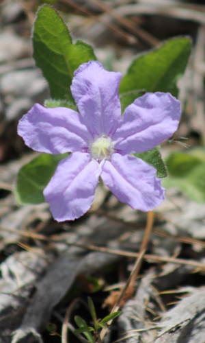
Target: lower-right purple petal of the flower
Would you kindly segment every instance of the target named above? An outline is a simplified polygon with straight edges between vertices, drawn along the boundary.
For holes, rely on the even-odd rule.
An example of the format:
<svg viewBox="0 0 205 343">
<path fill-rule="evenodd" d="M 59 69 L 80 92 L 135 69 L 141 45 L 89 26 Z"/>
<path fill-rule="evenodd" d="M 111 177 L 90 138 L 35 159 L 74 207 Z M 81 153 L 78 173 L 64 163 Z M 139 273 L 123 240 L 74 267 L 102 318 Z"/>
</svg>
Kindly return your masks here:
<svg viewBox="0 0 205 343">
<path fill-rule="evenodd" d="M 105 161 L 101 177 L 114 196 L 133 209 L 151 211 L 164 199 L 156 169 L 141 158 L 113 154 L 111 161 Z"/>
</svg>

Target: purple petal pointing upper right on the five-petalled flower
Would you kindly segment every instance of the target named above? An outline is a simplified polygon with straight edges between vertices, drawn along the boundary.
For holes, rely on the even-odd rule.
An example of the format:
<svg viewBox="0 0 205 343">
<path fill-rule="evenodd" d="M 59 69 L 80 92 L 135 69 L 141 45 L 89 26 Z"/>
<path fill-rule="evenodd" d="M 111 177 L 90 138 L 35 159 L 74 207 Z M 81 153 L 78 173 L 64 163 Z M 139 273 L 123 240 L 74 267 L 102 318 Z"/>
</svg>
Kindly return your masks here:
<svg viewBox="0 0 205 343">
<path fill-rule="evenodd" d="M 112 140 L 122 154 L 145 152 L 174 134 L 180 119 L 180 102 L 169 93 L 146 93 L 124 110 Z"/>
</svg>

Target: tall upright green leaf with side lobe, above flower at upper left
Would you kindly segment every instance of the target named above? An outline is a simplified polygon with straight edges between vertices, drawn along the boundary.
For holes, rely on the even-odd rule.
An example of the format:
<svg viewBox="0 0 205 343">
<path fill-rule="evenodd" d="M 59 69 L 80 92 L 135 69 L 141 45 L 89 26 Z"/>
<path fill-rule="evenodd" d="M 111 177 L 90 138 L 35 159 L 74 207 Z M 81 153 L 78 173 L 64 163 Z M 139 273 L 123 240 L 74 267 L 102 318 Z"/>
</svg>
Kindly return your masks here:
<svg viewBox="0 0 205 343">
<path fill-rule="evenodd" d="M 68 28 L 59 14 L 43 5 L 33 27 L 33 58 L 49 82 L 51 97 L 72 99 L 70 84 L 80 64 L 96 60 L 90 45 L 72 44 Z"/>
</svg>

